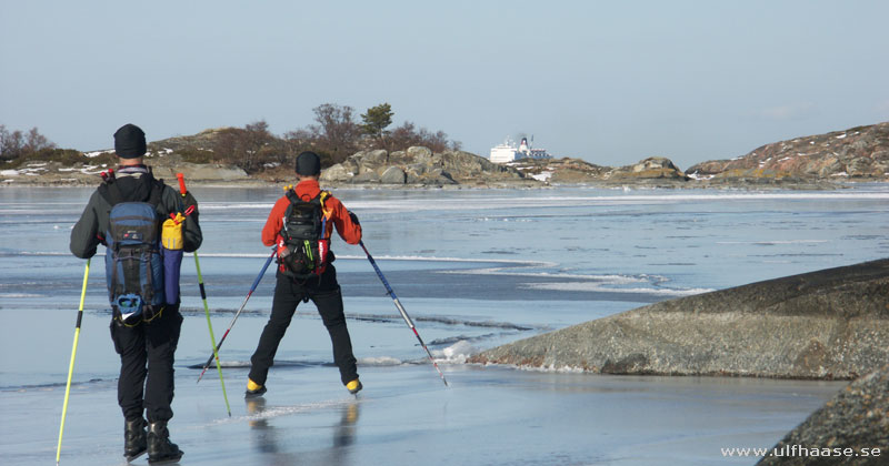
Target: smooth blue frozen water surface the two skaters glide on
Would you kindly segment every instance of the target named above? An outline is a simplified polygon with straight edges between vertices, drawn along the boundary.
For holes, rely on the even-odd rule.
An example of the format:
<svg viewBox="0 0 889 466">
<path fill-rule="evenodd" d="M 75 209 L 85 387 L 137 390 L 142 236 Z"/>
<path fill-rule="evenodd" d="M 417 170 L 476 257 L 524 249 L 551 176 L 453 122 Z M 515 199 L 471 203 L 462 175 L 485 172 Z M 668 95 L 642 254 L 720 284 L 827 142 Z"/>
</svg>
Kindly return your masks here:
<svg viewBox="0 0 889 466">
<path fill-rule="evenodd" d="M 92 190 L 0 189 L 0 463 L 54 460 L 84 262 L 70 229 Z M 278 188 L 194 186 L 219 338 L 269 250 Z M 358 246 L 334 240 L 364 391 L 349 395 L 311 303 L 261 402 L 242 398 L 270 271 L 214 368 L 193 259 L 182 266 L 172 439 L 183 465 L 753 464 L 842 382 L 631 377 L 465 364 L 467 355 L 661 300 L 889 255 L 889 185 L 832 192 L 338 190 L 449 387 Z M 101 249 L 100 249 L 101 254 Z M 92 261 L 61 464 L 121 465 L 118 358 Z M 146 464 L 141 457 L 134 464 Z"/>
</svg>

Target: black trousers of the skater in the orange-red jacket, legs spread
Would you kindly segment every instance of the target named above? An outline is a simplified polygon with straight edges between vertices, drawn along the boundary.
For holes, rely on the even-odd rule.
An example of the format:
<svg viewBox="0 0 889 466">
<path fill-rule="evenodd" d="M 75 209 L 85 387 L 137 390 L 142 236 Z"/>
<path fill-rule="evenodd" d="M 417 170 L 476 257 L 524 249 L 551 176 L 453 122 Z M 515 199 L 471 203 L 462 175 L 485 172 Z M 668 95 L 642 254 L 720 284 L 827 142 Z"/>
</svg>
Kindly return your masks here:
<svg viewBox="0 0 889 466">
<path fill-rule="evenodd" d="M 333 345 L 333 363 L 340 369 L 340 378 L 347 384 L 358 378 L 356 359 L 352 354 L 352 341 L 346 326 L 346 315 L 342 312 L 342 293 L 337 283 L 337 271 L 332 264 L 321 275 L 320 281 L 308 280 L 300 284 L 297 281 L 278 272 L 278 283 L 274 285 L 274 298 L 271 305 L 271 316 L 262 335 L 259 337 L 257 351 L 250 358 L 250 379 L 259 385 L 266 385 L 269 367 L 274 362 L 278 345 L 293 318 L 297 306 L 304 297 L 311 300 L 321 314 L 330 334 Z"/>
</svg>

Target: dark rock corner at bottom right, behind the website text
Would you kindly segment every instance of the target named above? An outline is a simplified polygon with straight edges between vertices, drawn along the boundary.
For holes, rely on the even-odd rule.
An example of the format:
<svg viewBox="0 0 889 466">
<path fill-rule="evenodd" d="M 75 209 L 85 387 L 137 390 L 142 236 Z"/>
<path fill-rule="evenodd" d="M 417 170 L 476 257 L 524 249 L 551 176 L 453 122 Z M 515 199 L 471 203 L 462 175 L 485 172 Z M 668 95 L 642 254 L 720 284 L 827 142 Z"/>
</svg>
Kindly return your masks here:
<svg viewBox="0 0 889 466">
<path fill-rule="evenodd" d="M 770 452 L 757 465 L 889 464 L 889 365 L 849 384 Z"/>
</svg>

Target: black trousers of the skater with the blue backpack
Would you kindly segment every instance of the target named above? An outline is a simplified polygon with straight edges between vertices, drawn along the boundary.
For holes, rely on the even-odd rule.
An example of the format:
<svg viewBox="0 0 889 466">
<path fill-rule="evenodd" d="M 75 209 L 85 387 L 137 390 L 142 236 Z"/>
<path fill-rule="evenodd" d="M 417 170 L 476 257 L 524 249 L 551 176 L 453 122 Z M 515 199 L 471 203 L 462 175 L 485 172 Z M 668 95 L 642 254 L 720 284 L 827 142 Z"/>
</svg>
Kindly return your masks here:
<svg viewBox="0 0 889 466">
<path fill-rule="evenodd" d="M 111 340 L 120 355 L 118 404 L 127 421 L 170 421 L 173 411 L 173 353 L 179 344 L 182 315 L 179 305 L 168 305 L 151 322 L 128 327 L 111 321 Z"/>
</svg>

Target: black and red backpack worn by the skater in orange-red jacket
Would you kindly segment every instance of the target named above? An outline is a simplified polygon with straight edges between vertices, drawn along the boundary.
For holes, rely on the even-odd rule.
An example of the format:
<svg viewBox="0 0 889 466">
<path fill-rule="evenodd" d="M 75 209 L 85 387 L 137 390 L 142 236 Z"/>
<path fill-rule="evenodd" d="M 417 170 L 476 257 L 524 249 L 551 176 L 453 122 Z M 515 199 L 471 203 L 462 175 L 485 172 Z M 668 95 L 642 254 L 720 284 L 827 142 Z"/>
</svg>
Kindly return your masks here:
<svg viewBox="0 0 889 466">
<path fill-rule="evenodd" d="M 320 276 L 330 263 L 330 239 L 324 237 L 327 216 L 324 199 L 330 195 L 321 191 L 311 201 L 303 201 L 291 189 L 287 192 L 283 226 L 278 240 L 278 270 L 297 280 Z"/>
</svg>

